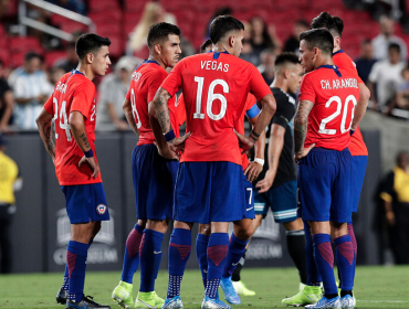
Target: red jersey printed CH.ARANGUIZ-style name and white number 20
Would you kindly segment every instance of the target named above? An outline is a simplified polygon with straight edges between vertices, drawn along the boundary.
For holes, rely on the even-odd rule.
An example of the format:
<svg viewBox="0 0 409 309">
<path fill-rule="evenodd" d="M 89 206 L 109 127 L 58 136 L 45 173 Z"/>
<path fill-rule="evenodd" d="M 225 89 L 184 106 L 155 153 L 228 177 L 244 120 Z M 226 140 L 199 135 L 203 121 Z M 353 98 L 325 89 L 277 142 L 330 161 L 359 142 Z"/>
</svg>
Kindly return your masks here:
<svg viewBox="0 0 409 309">
<path fill-rule="evenodd" d="M 338 76 L 338 74 L 340 76 Z M 342 151 L 349 145 L 353 114 L 359 98 L 358 79 L 347 71 L 323 65 L 304 75 L 298 100 L 314 103 L 304 147 Z"/>
</svg>

